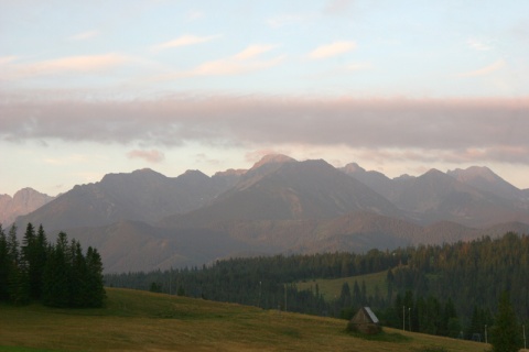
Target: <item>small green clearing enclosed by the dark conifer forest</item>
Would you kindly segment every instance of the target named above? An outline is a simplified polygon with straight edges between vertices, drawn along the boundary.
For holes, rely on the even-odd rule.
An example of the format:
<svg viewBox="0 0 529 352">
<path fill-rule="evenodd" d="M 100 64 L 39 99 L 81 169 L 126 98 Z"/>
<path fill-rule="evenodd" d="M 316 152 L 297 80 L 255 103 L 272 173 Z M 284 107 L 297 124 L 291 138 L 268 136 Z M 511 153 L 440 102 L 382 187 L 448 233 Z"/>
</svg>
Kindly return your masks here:
<svg viewBox="0 0 529 352">
<path fill-rule="evenodd" d="M 381 297 L 386 297 L 388 293 L 388 286 L 386 284 L 386 275 L 388 272 L 380 272 L 367 275 L 341 277 L 341 278 L 316 278 L 314 280 L 296 283 L 298 288 L 301 289 L 312 289 L 316 290 L 316 284 L 320 289 L 320 294 L 325 300 L 333 300 L 339 297 L 342 293 L 342 286 L 344 283 L 349 284 L 350 293 L 353 294 L 353 287 L 355 280 L 358 283 L 358 286 L 361 287 L 361 282 L 366 283 L 366 293 L 368 296 L 375 296 L 375 290 L 378 287 L 378 290 Z"/>
</svg>

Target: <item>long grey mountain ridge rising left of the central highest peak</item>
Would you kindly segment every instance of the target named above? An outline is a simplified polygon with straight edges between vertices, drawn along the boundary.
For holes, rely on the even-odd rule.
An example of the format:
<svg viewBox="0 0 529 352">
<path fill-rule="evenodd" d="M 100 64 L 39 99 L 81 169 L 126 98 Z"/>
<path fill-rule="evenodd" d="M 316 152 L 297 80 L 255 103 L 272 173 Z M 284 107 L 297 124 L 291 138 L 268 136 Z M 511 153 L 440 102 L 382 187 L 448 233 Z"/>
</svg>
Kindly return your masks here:
<svg viewBox="0 0 529 352">
<path fill-rule="evenodd" d="M 120 220 L 155 222 L 206 205 L 233 183 L 231 174 L 208 177 L 198 170 L 175 178 L 151 169 L 109 174 L 99 183 L 75 186 L 18 222 L 42 223 L 50 230 L 99 227 Z"/>
</svg>

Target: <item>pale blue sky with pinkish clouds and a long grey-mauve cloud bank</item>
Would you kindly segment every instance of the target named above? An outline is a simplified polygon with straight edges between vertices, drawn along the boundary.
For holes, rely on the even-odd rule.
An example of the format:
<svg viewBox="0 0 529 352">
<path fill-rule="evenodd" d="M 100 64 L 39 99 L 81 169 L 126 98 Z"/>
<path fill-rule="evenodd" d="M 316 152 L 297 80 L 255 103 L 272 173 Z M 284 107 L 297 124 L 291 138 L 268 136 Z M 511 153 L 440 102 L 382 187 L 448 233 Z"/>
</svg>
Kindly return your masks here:
<svg viewBox="0 0 529 352">
<path fill-rule="evenodd" d="M 529 188 L 529 1 L 0 0 L 0 194 L 266 154 Z"/>
</svg>

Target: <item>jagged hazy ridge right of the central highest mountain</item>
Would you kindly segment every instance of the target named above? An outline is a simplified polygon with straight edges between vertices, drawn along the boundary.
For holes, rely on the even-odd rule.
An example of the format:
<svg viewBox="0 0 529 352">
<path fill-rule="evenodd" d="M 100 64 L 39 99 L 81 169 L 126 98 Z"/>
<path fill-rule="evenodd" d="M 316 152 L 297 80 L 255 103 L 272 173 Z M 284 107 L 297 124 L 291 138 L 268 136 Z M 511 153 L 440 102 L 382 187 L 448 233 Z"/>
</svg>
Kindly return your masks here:
<svg viewBox="0 0 529 352">
<path fill-rule="evenodd" d="M 471 167 L 446 174 L 431 169 L 419 176 L 390 179 L 355 164 L 342 169 L 385 196 L 421 224 L 453 221 L 485 228 L 500 222 L 529 222 L 522 191 L 488 168 Z"/>
</svg>

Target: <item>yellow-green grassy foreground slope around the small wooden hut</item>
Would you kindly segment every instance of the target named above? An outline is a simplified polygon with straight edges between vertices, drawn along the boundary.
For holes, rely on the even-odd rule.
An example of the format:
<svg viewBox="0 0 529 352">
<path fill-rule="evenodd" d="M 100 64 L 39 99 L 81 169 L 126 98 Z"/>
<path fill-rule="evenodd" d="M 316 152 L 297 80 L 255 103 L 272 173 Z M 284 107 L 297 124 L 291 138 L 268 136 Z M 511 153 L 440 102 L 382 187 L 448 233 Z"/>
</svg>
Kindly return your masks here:
<svg viewBox="0 0 529 352">
<path fill-rule="evenodd" d="M 367 341 L 348 336 L 344 320 L 330 318 L 126 289 L 107 294 L 104 309 L 1 305 L 0 351 L 485 350 L 482 343 L 409 332 L 403 342 Z"/>
</svg>

